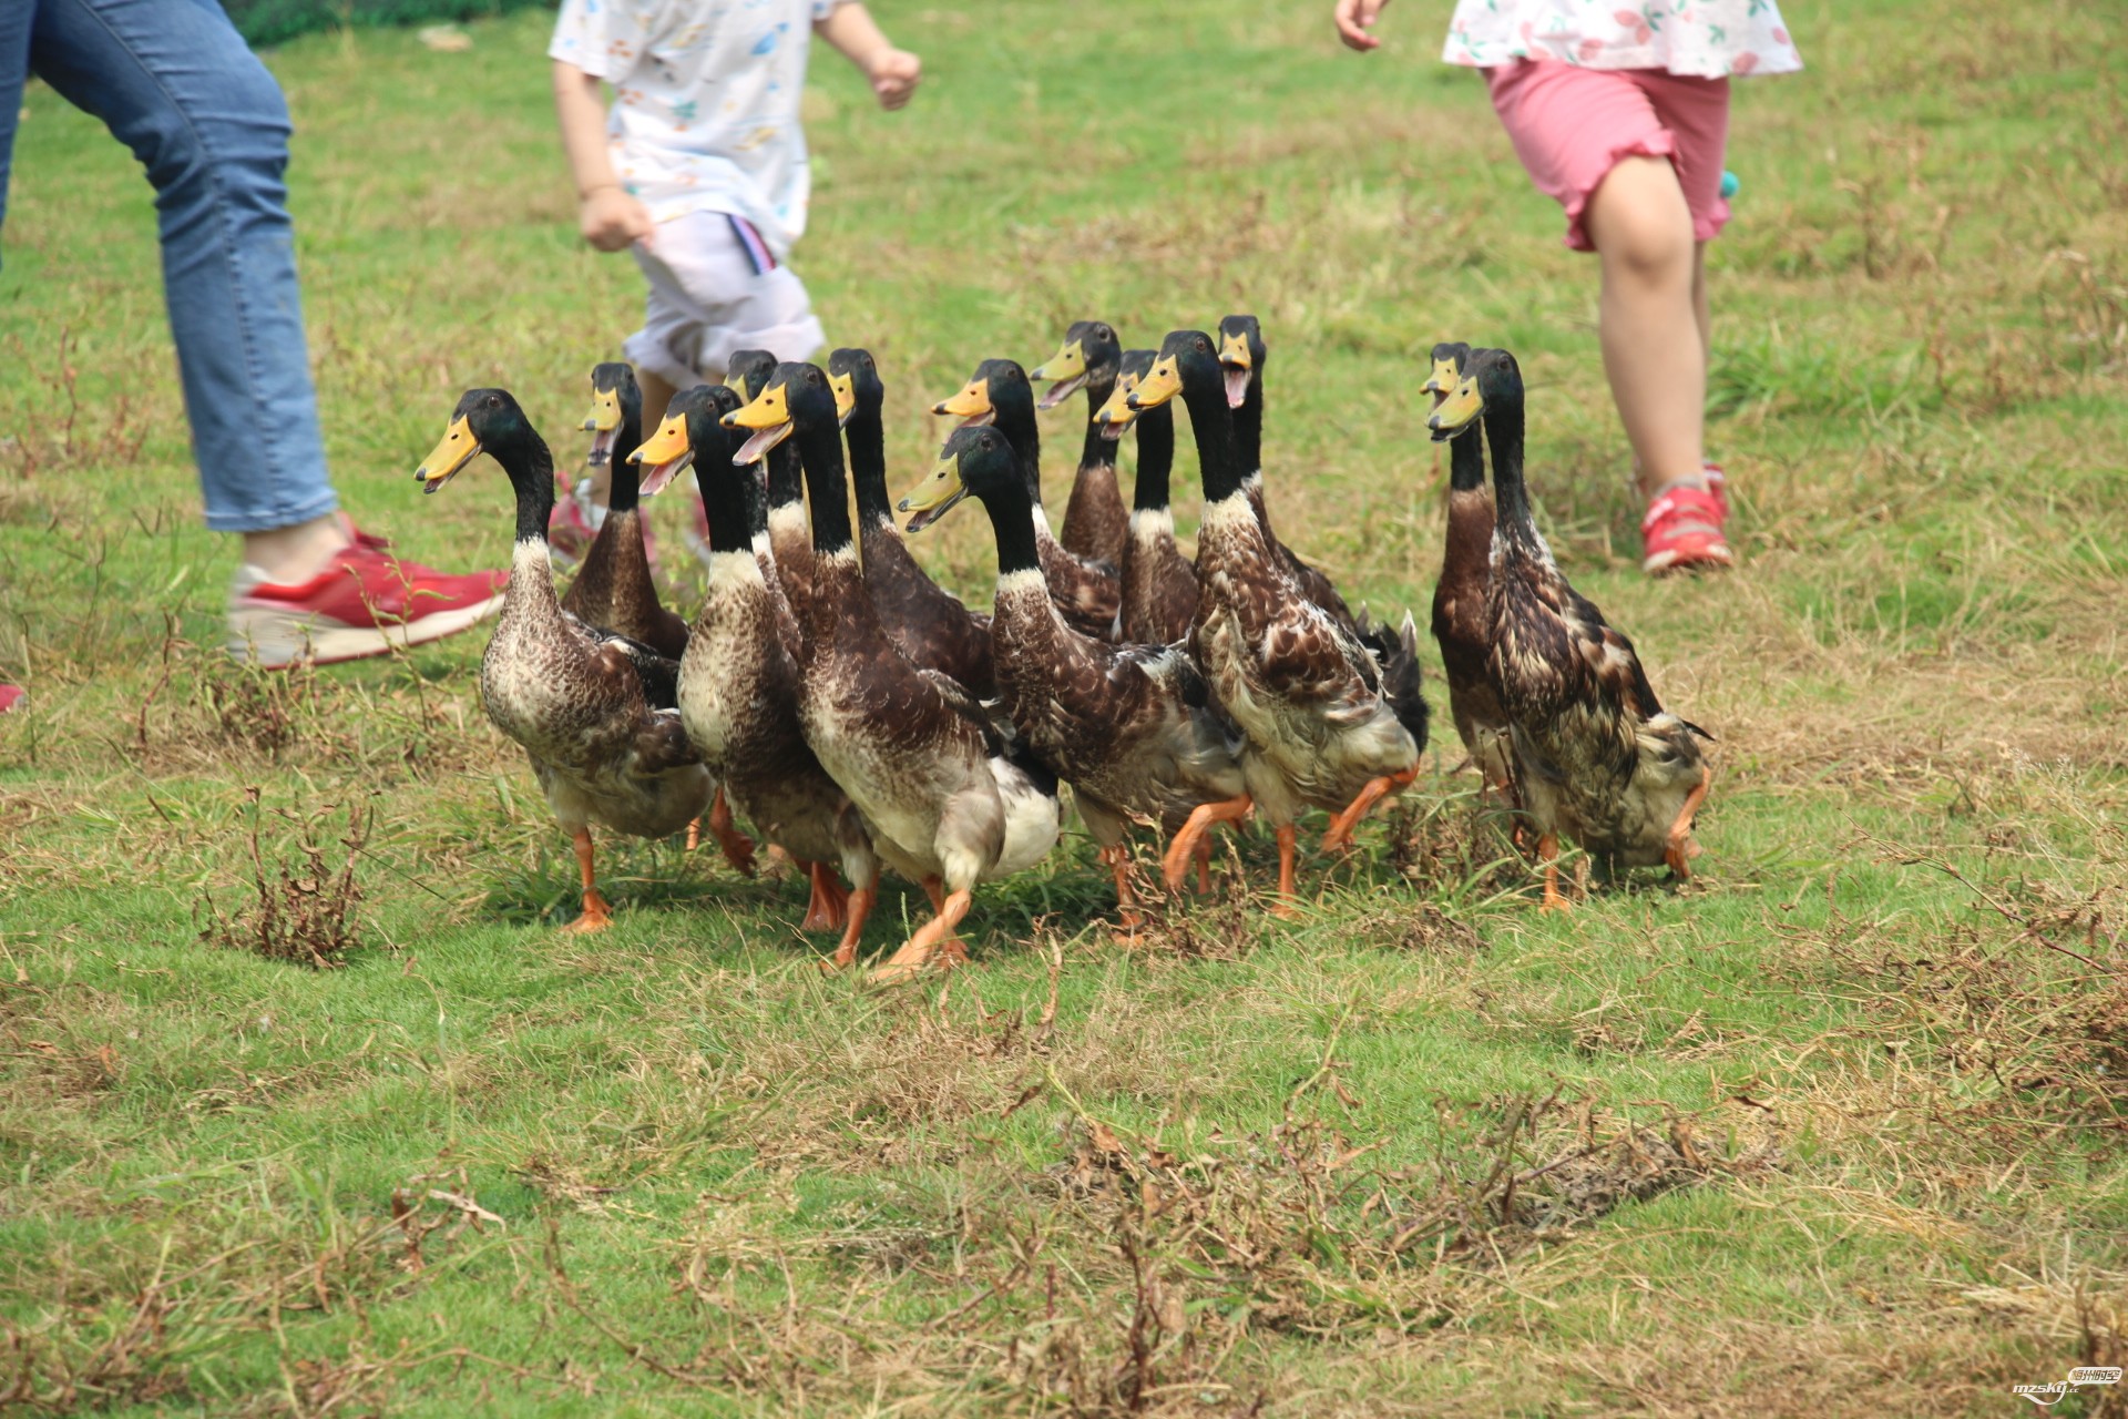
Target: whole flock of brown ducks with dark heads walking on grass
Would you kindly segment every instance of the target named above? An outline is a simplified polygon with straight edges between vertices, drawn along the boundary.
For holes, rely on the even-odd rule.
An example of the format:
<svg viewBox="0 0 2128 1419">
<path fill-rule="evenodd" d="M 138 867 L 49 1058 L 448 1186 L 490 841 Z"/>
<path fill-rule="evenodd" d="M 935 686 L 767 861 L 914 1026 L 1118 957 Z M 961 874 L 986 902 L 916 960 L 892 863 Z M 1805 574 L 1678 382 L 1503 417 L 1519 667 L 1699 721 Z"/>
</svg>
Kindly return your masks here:
<svg viewBox="0 0 2128 1419">
<path fill-rule="evenodd" d="M 547 547 L 553 455 L 504 389 L 472 389 L 415 477 L 440 489 L 489 453 L 517 498 L 511 581 L 481 662 L 489 719 L 532 759 L 570 832 L 583 915 L 611 921 L 592 825 L 645 838 L 706 828 L 753 870 L 745 819 L 811 881 L 802 930 L 841 930 L 855 962 L 881 866 L 921 883 L 932 917 L 881 979 L 964 959 L 970 891 L 1041 862 L 1060 781 L 1138 923 L 1126 834 L 1166 838 L 1162 874 L 1204 881 L 1215 823 L 1264 817 L 1279 898 L 1294 896 L 1296 821 L 1330 811 L 1343 847 L 1426 747 L 1411 615 L 1353 615 L 1270 528 L 1262 485 L 1262 330 L 1177 330 L 1121 349 L 1079 321 L 1043 366 L 985 360 L 934 406 L 962 419 L 900 500 L 919 532 L 964 498 L 990 517 L 998 583 L 970 611 L 915 562 L 887 491 L 885 387 L 872 355 L 826 368 L 743 351 L 730 385 L 675 396 L 643 438 L 626 364 L 592 372 L 592 460 L 611 513 L 558 598 Z M 1053 381 L 1036 400 L 1032 381 Z M 1632 642 L 1579 596 L 1530 517 L 1515 357 L 1441 345 L 1426 389 L 1451 443 L 1449 521 L 1432 630 L 1449 706 L 1483 796 L 1513 815 L 1558 911 L 1558 840 L 1609 866 L 1690 877 L 1707 738 L 1664 713 Z M 1036 408 L 1085 394 L 1060 534 L 1043 513 Z M 1175 402 L 1204 485 L 1196 555 L 1175 542 Z M 1117 483 L 1136 438 L 1132 508 Z M 847 462 L 845 462 L 847 436 Z M 1485 481 L 1492 449 L 1492 489 Z M 694 468 L 709 519 L 709 591 L 694 623 L 658 602 L 638 500 Z M 855 483 L 855 523 L 849 483 Z M 847 883 L 847 887 L 845 887 Z"/>
</svg>

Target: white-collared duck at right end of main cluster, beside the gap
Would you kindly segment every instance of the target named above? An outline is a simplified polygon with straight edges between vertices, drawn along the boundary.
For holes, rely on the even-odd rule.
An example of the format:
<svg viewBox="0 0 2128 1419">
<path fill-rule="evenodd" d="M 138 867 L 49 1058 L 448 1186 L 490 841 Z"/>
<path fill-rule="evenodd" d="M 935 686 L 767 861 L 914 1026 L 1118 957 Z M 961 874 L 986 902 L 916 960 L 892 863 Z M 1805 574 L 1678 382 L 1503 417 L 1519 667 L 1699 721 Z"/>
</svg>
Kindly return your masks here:
<svg viewBox="0 0 2128 1419">
<path fill-rule="evenodd" d="M 1190 406 L 1204 515 L 1198 523 L 1198 613 L 1190 628 L 1211 689 L 1247 736 L 1247 796 L 1200 804 L 1175 834 L 1162 862 L 1179 889 L 1187 853 L 1215 821 L 1260 813 L 1279 838 L 1279 911 L 1294 898 L 1294 821 L 1304 808 L 1336 817 L 1328 847 L 1343 847 L 1360 817 L 1385 794 L 1409 785 L 1426 747 L 1426 700 L 1417 696 L 1411 655 L 1407 704 L 1358 634 L 1300 591 L 1270 534 L 1256 517 L 1234 449 L 1234 417 L 1213 338 L 1177 330 L 1128 404 Z M 1415 647 L 1409 613 L 1398 640 Z"/>
</svg>

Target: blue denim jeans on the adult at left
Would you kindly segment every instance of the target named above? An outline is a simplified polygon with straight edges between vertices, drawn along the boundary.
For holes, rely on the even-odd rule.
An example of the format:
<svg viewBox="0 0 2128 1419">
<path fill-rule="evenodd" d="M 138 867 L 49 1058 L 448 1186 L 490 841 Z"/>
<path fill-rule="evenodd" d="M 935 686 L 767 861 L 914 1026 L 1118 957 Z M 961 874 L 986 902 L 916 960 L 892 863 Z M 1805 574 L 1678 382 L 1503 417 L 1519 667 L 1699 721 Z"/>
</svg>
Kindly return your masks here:
<svg viewBox="0 0 2128 1419">
<path fill-rule="evenodd" d="M 206 525 L 266 532 L 334 511 L 281 181 L 281 85 L 215 0 L 0 0 L 0 221 L 28 72 L 102 119 L 155 185 Z"/>
</svg>

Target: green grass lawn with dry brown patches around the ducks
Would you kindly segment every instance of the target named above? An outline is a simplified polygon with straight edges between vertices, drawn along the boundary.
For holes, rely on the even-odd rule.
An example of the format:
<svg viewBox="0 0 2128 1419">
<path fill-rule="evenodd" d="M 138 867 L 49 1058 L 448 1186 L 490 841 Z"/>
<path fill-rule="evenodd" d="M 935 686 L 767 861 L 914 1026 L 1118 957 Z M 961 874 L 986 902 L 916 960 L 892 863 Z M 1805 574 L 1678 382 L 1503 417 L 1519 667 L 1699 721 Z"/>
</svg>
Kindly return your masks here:
<svg viewBox="0 0 2128 1419">
<path fill-rule="evenodd" d="M 617 928 L 558 934 L 575 864 L 479 634 L 223 660 L 151 194 L 32 87 L 0 1408 L 2013 1415 L 2128 1364 L 2128 17 L 1790 6 L 1813 68 L 1739 85 L 1711 249 L 1743 568 L 1670 583 L 1594 264 L 1432 60 L 1445 17 L 1394 6 L 1362 60 L 1317 0 L 887 4 L 926 87 L 879 115 L 819 55 L 796 266 L 879 355 L 902 483 L 985 355 L 1256 311 L 1283 536 L 1422 621 L 1424 353 L 1515 349 L 1564 566 L 1719 736 L 1700 883 L 1539 917 L 1436 700 L 1447 742 L 1304 864 L 1300 921 L 1243 889 L 1260 834 L 1124 949 L 1073 828 L 977 894 L 972 970 L 898 991 L 813 968 L 800 883 L 677 845 L 609 845 Z M 575 449 L 641 298 L 575 236 L 547 23 L 270 55 L 334 477 L 438 566 L 509 545 L 494 468 L 409 479 L 458 394 Z M 1081 417 L 1049 415 L 1053 498 Z M 987 598 L 983 519 L 919 551 Z M 343 870 L 345 968 L 228 945 L 257 881 L 330 919 Z M 890 881 L 868 947 L 921 911 Z"/>
</svg>

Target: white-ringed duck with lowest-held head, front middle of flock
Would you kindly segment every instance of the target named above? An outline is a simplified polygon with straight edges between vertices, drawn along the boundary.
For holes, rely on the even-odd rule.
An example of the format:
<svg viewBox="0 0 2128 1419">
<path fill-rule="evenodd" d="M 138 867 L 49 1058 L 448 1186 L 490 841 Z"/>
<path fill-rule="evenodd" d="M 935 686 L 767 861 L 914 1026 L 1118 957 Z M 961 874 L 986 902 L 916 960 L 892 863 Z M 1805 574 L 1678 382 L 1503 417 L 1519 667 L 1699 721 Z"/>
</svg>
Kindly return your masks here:
<svg viewBox="0 0 2128 1419">
<path fill-rule="evenodd" d="M 998 545 L 990 634 L 998 702 L 1026 749 L 1073 785 L 1079 817 L 1115 872 L 1126 928 L 1138 925 L 1128 823 L 1179 830 L 1200 804 L 1243 798 L 1241 730 L 1175 645 L 1111 645 L 1070 628 L 1043 581 L 1034 502 L 1013 445 L 994 428 L 955 430 L 904 513 L 943 517 L 975 496 Z"/>
</svg>

